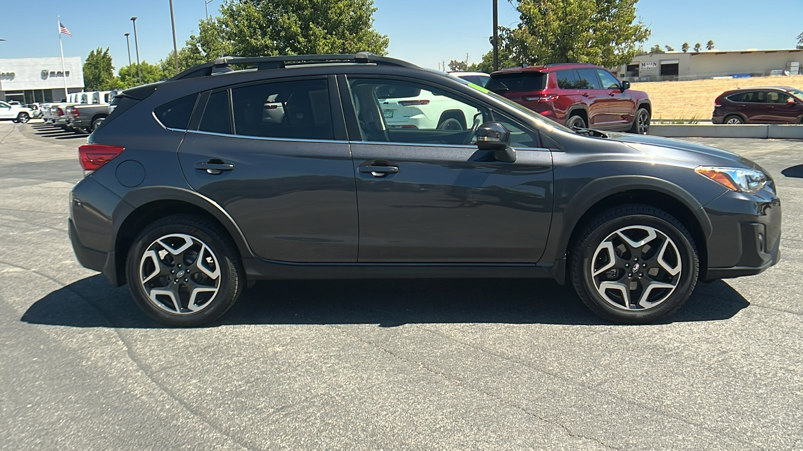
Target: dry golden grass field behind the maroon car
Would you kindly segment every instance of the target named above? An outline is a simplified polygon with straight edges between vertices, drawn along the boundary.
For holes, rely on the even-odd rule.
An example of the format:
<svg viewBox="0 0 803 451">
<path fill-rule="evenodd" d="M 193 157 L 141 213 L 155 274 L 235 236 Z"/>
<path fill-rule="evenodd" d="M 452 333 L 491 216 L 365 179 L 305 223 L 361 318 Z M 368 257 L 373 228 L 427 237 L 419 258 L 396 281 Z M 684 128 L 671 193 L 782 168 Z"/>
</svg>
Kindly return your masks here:
<svg viewBox="0 0 803 451">
<path fill-rule="evenodd" d="M 664 81 L 633 83 L 633 89 L 650 95 L 654 120 L 711 120 L 717 95 L 738 87 L 791 86 L 803 87 L 803 75 L 790 77 L 755 77 L 749 79 Z"/>
</svg>

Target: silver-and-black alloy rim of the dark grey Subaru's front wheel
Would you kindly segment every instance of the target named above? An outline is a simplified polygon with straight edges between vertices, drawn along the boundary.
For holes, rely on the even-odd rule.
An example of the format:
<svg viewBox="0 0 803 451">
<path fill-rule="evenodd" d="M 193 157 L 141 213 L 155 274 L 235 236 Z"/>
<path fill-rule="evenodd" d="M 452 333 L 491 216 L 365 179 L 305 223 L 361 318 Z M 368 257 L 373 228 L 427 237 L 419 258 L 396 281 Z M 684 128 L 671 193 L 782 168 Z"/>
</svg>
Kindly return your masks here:
<svg viewBox="0 0 803 451">
<path fill-rule="evenodd" d="M 646 311 L 664 303 L 677 288 L 682 270 L 675 242 L 647 225 L 629 225 L 609 234 L 591 259 L 597 293 L 625 311 Z"/>
</svg>

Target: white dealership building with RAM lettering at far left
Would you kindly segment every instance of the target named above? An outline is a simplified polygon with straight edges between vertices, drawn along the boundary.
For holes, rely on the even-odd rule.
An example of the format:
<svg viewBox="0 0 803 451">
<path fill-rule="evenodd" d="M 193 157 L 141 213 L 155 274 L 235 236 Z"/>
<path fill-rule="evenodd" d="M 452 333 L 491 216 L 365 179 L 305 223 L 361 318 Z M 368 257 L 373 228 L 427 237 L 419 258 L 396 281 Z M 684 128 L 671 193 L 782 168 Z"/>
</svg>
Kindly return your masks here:
<svg viewBox="0 0 803 451">
<path fill-rule="evenodd" d="M 22 104 L 62 100 L 67 93 L 84 91 L 84 71 L 79 56 L 64 58 L 0 59 L 0 100 Z"/>
</svg>

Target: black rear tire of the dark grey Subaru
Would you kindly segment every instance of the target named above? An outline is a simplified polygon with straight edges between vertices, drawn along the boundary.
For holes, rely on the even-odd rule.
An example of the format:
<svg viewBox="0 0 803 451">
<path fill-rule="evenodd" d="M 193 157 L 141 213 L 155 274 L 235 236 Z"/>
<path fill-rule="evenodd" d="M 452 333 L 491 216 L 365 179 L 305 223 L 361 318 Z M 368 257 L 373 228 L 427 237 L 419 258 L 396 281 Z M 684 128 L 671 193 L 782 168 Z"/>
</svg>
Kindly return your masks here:
<svg viewBox="0 0 803 451">
<path fill-rule="evenodd" d="M 186 241 L 189 238 L 185 237 L 191 239 Z M 192 242 L 192 246 L 180 254 L 175 254 L 176 258 L 173 258 L 172 252 L 164 252 L 167 246 L 161 243 L 166 242 L 168 246 L 172 246 L 169 240 L 178 240 L 180 243 L 181 239 Z M 206 245 L 203 250 L 202 245 Z M 181 247 L 172 249 L 181 250 Z M 146 252 L 149 251 L 153 251 L 152 258 L 146 256 Z M 195 252 L 194 259 L 193 252 Z M 157 266 L 153 258 L 159 259 L 160 266 Z M 198 260 L 201 259 L 203 268 L 198 266 Z M 164 269 L 165 275 L 151 276 L 153 278 L 147 275 L 147 273 L 156 274 L 152 271 L 158 271 L 159 268 Z M 182 275 L 182 268 L 190 275 Z M 190 273 L 191 269 L 195 270 L 195 274 Z M 128 291 L 142 311 L 157 322 L 173 327 L 200 326 L 220 318 L 234 305 L 247 285 L 238 252 L 229 236 L 218 225 L 211 224 L 203 217 L 190 214 L 164 217 L 145 227 L 128 251 L 125 270 Z M 212 277 L 207 275 L 208 273 L 217 276 Z M 145 282 L 149 280 L 153 280 L 154 283 L 148 283 L 149 286 L 146 288 Z M 176 280 L 178 282 L 175 282 Z M 191 286 L 194 288 L 190 288 Z M 157 293 L 154 293 L 154 290 Z M 173 292 L 173 295 L 170 295 L 169 291 Z M 212 294 L 208 295 L 210 292 Z M 200 302 L 196 301 L 193 306 L 190 306 L 191 293 L 195 293 L 196 299 L 200 299 Z M 151 299 L 152 294 L 154 300 Z M 178 298 L 178 311 L 174 307 L 176 303 L 173 303 L 173 299 L 176 298 Z M 199 303 L 202 305 L 198 305 Z"/>
</svg>

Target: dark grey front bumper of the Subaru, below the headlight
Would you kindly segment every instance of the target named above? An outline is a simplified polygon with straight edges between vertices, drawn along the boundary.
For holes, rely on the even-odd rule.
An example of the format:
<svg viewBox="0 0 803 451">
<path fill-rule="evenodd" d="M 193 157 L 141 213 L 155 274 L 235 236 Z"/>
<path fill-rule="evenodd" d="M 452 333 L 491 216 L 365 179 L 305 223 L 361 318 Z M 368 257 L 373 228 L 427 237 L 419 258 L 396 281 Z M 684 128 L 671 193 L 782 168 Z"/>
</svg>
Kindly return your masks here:
<svg viewBox="0 0 803 451">
<path fill-rule="evenodd" d="M 704 280 L 759 274 L 781 258 L 781 199 L 772 189 L 728 191 L 703 209 L 712 228 Z"/>
</svg>

